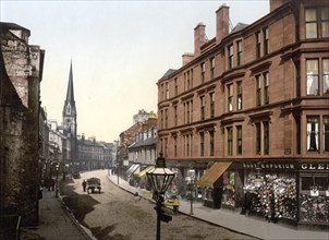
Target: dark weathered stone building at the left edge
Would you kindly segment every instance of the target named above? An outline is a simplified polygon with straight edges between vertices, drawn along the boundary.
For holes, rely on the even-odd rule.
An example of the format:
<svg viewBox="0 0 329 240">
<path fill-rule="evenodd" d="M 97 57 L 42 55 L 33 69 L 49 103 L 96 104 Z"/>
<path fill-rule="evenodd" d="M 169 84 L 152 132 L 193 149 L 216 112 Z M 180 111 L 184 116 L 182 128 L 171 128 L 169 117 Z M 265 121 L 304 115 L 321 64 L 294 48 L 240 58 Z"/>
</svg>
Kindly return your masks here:
<svg viewBox="0 0 329 240">
<path fill-rule="evenodd" d="M 38 224 L 39 110 L 45 51 L 31 32 L 0 23 L 0 211 Z"/>
</svg>

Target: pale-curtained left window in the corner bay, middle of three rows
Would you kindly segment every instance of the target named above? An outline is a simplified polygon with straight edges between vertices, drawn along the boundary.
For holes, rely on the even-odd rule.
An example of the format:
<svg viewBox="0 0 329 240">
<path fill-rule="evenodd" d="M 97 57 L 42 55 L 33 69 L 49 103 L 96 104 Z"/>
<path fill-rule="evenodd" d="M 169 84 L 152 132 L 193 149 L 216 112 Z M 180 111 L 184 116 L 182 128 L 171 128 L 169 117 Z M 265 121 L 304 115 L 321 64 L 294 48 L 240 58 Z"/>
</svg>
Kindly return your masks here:
<svg viewBox="0 0 329 240">
<path fill-rule="evenodd" d="M 306 61 L 307 95 L 319 94 L 318 60 Z"/>
</svg>

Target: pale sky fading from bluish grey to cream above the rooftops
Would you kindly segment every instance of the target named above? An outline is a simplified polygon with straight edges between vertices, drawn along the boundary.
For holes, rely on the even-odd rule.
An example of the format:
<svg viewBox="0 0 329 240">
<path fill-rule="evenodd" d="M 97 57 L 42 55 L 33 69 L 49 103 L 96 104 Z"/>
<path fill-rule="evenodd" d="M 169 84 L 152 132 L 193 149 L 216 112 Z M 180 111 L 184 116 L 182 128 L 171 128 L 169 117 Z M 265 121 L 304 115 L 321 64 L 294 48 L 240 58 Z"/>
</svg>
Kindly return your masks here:
<svg viewBox="0 0 329 240">
<path fill-rule="evenodd" d="M 268 0 L 50 1 L 0 0 L 0 21 L 31 31 L 29 45 L 46 50 L 41 106 L 62 122 L 70 62 L 77 132 L 113 142 L 139 109 L 157 112 L 157 81 L 194 51 L 194 27 L 215 37 L 216 11 L 251 24 L 269 12 Z"/>
</svg>

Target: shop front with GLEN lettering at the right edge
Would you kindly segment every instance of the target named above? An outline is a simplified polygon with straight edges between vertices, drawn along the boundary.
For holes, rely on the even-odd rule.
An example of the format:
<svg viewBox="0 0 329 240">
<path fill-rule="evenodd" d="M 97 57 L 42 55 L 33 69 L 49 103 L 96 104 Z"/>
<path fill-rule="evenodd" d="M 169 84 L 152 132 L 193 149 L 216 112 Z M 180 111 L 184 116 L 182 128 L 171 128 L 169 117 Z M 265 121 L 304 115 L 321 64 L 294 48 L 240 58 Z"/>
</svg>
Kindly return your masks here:
<svg viewBox="0 0 329 240">
<path fill-rule="evenodd" d="M 300 224 L 329 225 L 329 163 L 300 163 Z"/>
</svg>

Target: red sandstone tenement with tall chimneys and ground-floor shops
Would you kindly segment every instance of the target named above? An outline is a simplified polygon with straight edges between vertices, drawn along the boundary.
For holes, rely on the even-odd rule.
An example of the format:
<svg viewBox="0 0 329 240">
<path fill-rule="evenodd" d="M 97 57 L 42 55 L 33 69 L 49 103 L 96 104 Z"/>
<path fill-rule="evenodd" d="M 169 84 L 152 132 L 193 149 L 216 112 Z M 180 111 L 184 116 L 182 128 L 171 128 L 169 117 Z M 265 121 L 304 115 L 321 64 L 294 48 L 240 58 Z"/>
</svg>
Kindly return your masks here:
<svg viewBox="0 0 329 240">
<path fill-rule="evenodd" d="M 158 81 L 158 152 L 178 193 L 195 180 L 210 207 L 329 224 L 329 5 L 270 0 L 270 13 L 216 37 Z"/>
</svg>

